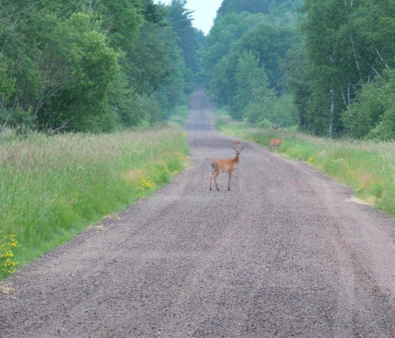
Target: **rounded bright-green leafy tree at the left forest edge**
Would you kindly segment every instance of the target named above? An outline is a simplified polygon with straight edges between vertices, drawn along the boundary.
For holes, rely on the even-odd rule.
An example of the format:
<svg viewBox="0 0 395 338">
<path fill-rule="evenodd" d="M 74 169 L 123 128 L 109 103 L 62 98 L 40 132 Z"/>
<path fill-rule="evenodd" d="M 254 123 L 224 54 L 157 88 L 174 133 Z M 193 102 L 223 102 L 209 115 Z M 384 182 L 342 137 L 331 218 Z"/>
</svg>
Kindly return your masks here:
<svg viewBox="0 0 395 338">
<path fill-rule="evenodd" d="M 40 83 L 44 97 L 29 102 L 36 110 L 36 125 L 51 130 L 66 123 L 71 130 L 101 130 L 106 93 L 118 71 L 115 52 L 102 33 L 91 29 L 85 14 L 73 14 L 64 22 L 53 16 L 43 19 L 52 30 L 36 36 L 45 43 L 35 63 L 47 76 Z"/>
</svg>

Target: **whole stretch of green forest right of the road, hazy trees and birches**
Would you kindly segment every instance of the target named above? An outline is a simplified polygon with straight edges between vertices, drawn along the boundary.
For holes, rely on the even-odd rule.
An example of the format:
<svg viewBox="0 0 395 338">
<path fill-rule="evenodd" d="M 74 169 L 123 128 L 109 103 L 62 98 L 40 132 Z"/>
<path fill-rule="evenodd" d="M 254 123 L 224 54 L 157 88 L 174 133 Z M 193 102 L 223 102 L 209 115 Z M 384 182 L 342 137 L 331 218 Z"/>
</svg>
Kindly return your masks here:
<svg viewBox="0 0 395 338">
<path fill-rule="evenodd" d="M 395 139 L 394 28 L 394 0 L 224 0 L 201 75 L 239 120 Z"/>
</svg>

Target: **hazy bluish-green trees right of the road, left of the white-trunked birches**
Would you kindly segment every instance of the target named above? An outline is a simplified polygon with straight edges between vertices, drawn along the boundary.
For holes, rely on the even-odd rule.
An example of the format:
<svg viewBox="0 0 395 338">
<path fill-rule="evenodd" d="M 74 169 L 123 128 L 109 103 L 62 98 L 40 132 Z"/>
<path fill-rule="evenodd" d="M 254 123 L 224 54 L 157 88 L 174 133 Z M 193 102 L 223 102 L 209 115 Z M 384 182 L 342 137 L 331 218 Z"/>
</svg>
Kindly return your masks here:
<svg viewBox="0 0 395 338">
<path fill-rule="evenodd" d="M 297 3 L 283 4 L 284 11 L 276 11 L 279 7 L 274 3 L 270 11 L 258 10 L 266 2 L 222 3 L 222 9 L 241 7 L 218 11 L 202 53 L 202 72 L 217 104 L 229 105 L 233 118 L 257 124 L 297 124 L 286 62 L 288 50 L 301 42 L 295 30 Z"/>
</svg>

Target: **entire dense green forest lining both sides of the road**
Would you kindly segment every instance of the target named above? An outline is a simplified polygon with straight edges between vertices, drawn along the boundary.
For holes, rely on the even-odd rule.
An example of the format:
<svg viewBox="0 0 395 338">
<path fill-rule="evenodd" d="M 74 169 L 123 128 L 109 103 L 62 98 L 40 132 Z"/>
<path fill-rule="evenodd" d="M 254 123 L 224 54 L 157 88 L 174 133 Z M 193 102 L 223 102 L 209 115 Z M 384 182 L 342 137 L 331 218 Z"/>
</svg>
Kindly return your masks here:
<svg viewBox="0 0 395 338">
<path fill-rule="evenodd" d="M 194 84 L 235 119 L 395 139 L 395 0 L 0 3 L 0 128 L 111 131 L 166 120 Z"/>
</svg>

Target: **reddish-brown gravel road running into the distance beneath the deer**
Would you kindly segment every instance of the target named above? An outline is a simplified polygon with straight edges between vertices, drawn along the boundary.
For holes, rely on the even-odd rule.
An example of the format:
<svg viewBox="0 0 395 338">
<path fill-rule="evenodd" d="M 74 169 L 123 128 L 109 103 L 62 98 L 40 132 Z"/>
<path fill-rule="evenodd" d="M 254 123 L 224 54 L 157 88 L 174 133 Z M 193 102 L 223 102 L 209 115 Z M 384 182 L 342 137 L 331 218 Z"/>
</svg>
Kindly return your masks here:
<svg viewBox="0 0 395 338">
<path fill-rule="evenodd" d="M 198 89 L 192 169 L 8 281 L 1 337 L 395 336 L 395 221 L 249 142 L 210 192 L 211 111 Z"/>
</svg>

